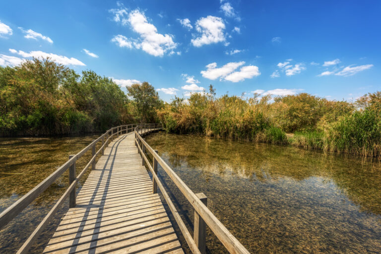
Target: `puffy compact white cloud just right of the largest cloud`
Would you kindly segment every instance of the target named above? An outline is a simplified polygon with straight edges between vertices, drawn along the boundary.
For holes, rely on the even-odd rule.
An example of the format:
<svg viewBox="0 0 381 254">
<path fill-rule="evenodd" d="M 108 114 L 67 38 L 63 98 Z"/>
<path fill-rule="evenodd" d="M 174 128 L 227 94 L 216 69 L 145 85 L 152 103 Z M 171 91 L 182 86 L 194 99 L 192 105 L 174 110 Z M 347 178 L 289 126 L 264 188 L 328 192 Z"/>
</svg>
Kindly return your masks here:
<svg viewBox="0 0 381 254">
<path fill-rule="evenodd" d="M 207 16 L 196 21 L 198 37 L 191 40 L 194 47 L 225 42 L 225 23 L 220 17 Z"/>
</svg>

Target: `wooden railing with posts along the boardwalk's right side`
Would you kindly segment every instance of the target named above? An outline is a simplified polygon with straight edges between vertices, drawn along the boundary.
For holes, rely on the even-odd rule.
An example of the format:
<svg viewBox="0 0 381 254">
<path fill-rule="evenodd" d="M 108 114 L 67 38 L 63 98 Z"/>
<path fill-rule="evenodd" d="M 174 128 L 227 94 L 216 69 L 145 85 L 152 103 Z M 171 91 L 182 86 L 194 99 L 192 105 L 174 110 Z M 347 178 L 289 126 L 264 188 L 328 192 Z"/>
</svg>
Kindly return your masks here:
<svg viewBox="0 0 381 254">
<path fill-rule="evenodd" d="M 180 177 L 168 166 L 168 164 L 153 150 L 147 142 L 141 137 L 141 133 L 145 133 L 147 126 L 137 125 L 135 128 L 135 145 L 142 157 L 142 165 L 147 165 L 152 173 L 153 193 L 157 193 L 159 187 L 165 201 L 167 202 L 181 232 L 191 252 L 193 254 L 205 254 L 205 223 L 211 231 L 217 236 L 225 248 L 232 254 L 249 254 L 249 251 L 229 232 L 229 230 L 219 221 L 216 216 L 206 206 L 206 196 L 202 193 L 194 194 L 191 189 L 180 179 Z M 153 157 L 152 165 L 149 163 L 146 152 L 151 153 Z M 194 208 L 194 228 L 193 237 L 188 228 L 184 224 L 180 214 L 176 210 L 175 205 L 169 198 L 166 190 L 160 182 L 157 175 L 157 165 L 160 165 L 168 174 L 177 188 L 183 193 L 186 199 Z"/>
</svg>

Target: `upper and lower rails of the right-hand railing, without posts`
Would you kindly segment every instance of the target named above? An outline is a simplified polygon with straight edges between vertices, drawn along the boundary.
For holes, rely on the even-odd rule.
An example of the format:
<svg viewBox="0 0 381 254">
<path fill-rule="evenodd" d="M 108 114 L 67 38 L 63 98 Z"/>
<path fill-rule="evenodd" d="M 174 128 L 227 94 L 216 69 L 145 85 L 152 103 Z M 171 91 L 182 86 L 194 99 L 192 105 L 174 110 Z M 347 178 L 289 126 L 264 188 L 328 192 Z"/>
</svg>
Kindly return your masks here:
<svg viewBox="0 0 381 254">
<path fill-rule="evenodd" d="M 197 245 L 195 244 L 194 240 L 191 238 L 191 234 L 189 233 L 188 229 L 186 228 L 183 220 L 181 219 L 180 215 L 178 214 L 175 206 L 173 205 L 172 201 L 170 200 L 167 192 L 165 191 L 163 185 L 161 184 L 158 176 L 157 171 L 155 172 L 154 169 L 150 166 L 147 157 L 145 156 L 143 151 L 149 151 L 152 154 L 153 160 L 157 161 L 161 165 L 161 167 L 164 169 L 164 171 L 168 174 L 168 176 L 171 178 L 171 180 L 175 183 L 175 185 L 179 188 L 179 190 L 183 193 L 183 195 L 186 197 L 186 199 L 191 203 L 194 210 L 198 213 L 198 215 L 205 221 L 205 223 L 209 226 L 209 228 L 212 230 L 212 232 L 217 236 L 217 238 L 221 241 L 221 243 L 225 246 L 225 248 L 229 251 L 229 253 L 232 254 L 250 254 L 248 250 L 235 238 L 229 230 L 217 219 L 217 217 L 208 209 L 208 207 L 200 201 L 200 199 L 194 194 L 191 189 L 180 179 L 180 177 L 171 169 L 170 166 L 157 154 L 156 151 L 154 151 L 148 144 L 145 142 L 145 140 L 141 137 L 139 134 L 139 130 L 141 130 L 141 133 L 143 133 L 143 130 L 146 129 L 146 125 L 139 124 L 135 127 L 135 145 L 139 149 L 139 153 L 142 156 L 142 159 L 146 162 L 148 165 L 148 168 L 151 170 L 152 176 L 154 181 L 156 181 L 157 185 L 159 186 L 159 189 L 161 190 L 165 201 L 168 203 L 168 206 L 170 210 L 172 211 L 176 222 L 179 225 L 179 228 L 181 232 L 183 233 L 192 253 L 200 253 Z M 142 148 L 140 148 L 141 144 Z M 196 247 L 196 249 L 194 248 Z M 204 251 L 203 251 L 204 252 Z"/>
</svg>

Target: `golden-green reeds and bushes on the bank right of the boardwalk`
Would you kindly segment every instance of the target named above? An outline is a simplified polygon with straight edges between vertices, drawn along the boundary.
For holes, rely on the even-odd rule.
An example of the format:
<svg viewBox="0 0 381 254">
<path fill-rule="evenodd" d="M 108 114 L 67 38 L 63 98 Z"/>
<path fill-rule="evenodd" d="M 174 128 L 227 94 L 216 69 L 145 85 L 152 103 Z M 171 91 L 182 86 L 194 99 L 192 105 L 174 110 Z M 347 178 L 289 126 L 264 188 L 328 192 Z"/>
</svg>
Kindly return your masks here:
<svg viewBox="0 0 381 254">
<path fill-rule="evenodd" d="M 168 132 L 193 133 L 306 149 L 381 156 L 381 92 L 356 102 L 328 101 L 306 93 L 274 98 L 215 97 L 193 93 L 158 109 Z M 293 133 L 286 138 L 286 133 Z"/>
</svg>

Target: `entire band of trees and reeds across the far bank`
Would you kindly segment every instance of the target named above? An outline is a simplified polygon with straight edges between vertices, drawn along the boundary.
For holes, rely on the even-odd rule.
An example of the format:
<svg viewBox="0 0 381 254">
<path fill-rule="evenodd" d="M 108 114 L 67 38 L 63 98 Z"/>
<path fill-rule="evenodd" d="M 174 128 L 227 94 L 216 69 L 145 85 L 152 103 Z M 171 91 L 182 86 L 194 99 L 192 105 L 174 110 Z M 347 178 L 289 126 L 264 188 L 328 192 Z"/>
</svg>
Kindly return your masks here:
<svg viewBox="0 0 381 254">
<path fill-rule="evenodd" d="M 216 97 L 209 91 L 164 103 L 147 82 L 127 87 L 49 59 L 0 67 L 0 135 L 75 134 L 135 122 L 191 133 L 381 157 L 381 92 L 356 102 L 306 93 Z M 292 135 L 286 135 L 292 134 Z"/>
</svg>

